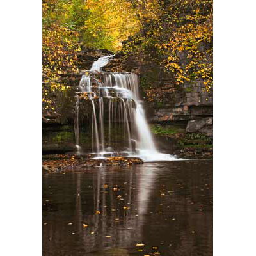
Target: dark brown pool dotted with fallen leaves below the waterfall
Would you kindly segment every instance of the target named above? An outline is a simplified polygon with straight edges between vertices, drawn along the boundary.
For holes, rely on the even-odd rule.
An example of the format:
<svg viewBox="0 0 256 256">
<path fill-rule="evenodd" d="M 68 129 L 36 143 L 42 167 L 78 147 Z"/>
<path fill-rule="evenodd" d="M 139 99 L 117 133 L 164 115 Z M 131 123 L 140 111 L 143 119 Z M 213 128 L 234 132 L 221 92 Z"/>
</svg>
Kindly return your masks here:
<svg viewBox="0 0 256 256">
<path fill-rule="evenodd" d="M 212 161 L 44 173 L 43 255 L 212 255 Z"/>
</svg>

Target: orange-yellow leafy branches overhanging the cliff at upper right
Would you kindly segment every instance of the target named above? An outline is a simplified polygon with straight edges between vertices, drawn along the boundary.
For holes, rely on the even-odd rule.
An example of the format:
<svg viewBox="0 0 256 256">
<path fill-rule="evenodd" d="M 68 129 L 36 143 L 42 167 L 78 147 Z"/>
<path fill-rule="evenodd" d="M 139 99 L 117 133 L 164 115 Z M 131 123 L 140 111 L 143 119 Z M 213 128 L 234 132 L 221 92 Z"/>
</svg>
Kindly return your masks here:
<svg viewBox="0 0 256 256">
<path fill-rule="evenodd" d="M 213 82 L 212 0 L 157 2 L 156 16 L 147 15 L 145 7 L 134 9 L 142 17 L 140 32 L 125 42 L 122 51 L 127 55 L 143 52 L 172 72 L 176 84 L 202 80 L 209 92 Z"/>
</svg>

